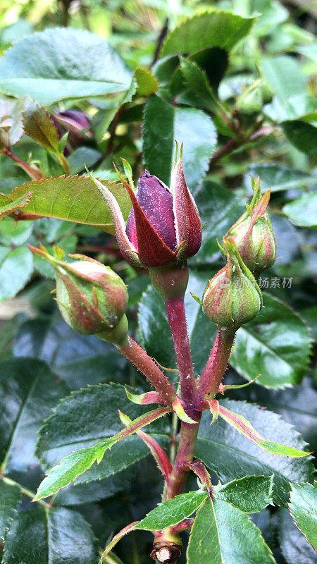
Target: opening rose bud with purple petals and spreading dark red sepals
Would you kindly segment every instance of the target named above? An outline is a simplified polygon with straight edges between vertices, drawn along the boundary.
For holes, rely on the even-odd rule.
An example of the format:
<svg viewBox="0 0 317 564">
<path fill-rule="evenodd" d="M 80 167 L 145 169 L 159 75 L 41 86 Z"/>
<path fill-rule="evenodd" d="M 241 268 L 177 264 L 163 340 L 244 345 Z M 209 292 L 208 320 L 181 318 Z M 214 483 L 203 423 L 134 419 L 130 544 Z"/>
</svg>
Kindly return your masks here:
<svg viewBox="0 0 317 564">
<path fill-rule="evenodd" d="M 127 166 L 125 163 L 126 169 Z M 155 268 L 195 255 L 201 245 L 201 221 L 185 182 L 182 154 L 173 166 L 170 188 L 146 171 L 139 178 L 135 194 L 132 182 L 118 175 L 132 201 L 126 226 L 111 192 L 99 180 L 92 179 L 111 212 L 123 257 L 135 266 Z"/>
</svg>

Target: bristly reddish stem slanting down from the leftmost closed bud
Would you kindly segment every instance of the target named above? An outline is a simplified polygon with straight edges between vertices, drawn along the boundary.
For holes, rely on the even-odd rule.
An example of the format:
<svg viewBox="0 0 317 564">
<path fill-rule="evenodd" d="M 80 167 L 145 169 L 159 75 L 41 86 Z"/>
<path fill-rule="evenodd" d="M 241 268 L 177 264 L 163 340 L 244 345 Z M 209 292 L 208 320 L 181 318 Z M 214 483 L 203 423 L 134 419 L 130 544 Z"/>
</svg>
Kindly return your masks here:
<svg viewBox="0 0 317 564">
<path fill-rule="evenodd" d="M 173 403 L 176 397 L 175 390 L 166 378 L 165 374 L 159 369 L 156 362 L 142 349 L 132 337 L 128 336 L 123 345 L 118 346 L 122 353 L 137 369 L 147 377 L 151 384 L 161 394 L 161 398 L 167 404 Z"/>
</svg>

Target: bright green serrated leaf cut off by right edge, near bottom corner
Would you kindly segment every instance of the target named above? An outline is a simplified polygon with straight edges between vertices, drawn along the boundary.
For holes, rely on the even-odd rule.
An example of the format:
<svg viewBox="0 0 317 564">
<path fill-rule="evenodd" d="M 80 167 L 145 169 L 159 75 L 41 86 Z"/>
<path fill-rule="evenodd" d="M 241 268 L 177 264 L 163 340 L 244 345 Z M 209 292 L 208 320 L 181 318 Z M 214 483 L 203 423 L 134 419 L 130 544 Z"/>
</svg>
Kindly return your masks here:
<svg viewBox="0 0 317 564">
<path fill-rule="evenodd" d="M 313 486 L 292 484 L 289 507 L 306 541 L 317 550 L 317 482 Z"/>
</svg>

